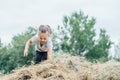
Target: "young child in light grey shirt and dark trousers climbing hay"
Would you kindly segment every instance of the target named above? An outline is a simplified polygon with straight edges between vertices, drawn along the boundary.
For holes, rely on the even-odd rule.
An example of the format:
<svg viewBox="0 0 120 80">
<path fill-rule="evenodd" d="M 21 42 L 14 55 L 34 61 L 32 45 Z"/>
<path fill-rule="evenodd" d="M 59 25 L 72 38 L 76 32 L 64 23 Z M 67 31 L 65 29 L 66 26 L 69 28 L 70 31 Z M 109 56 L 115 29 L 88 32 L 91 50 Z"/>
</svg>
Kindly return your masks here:
<svg viewBox="0 0 120 80">
<path fill-rule="evenodd" d="M 51 30 L 49 25 L 40 25 L 37 35 L 33 36 L 26 42 L 24 49 L 24 56 L 28 56 L 28 49 L 32 43 L 35 43 L 35 64 L 51 59 L 52 54 L 52 41 L 51 41 Z"/>
</svg>

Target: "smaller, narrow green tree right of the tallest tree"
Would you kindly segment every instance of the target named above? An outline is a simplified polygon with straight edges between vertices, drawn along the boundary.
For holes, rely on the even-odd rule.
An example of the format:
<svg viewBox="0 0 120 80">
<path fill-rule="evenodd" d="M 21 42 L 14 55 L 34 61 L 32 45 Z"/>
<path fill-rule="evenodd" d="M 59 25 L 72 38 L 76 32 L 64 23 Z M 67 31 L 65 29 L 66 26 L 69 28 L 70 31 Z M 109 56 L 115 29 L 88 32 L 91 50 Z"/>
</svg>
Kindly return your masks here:
<svg viewBox="0 0 120 80">
<path fill-rule="evenodd" d="M 109 40 L 109 36 L 106 34 L 106 31 L 104 29 L 100 29 L 99 39 L 85 56 L 90 60 L 100 58 L 107 60 L 111 44 L 112 42 Z"/>
</svg>

